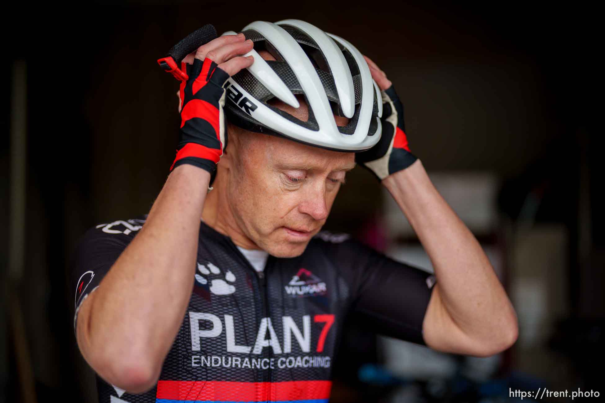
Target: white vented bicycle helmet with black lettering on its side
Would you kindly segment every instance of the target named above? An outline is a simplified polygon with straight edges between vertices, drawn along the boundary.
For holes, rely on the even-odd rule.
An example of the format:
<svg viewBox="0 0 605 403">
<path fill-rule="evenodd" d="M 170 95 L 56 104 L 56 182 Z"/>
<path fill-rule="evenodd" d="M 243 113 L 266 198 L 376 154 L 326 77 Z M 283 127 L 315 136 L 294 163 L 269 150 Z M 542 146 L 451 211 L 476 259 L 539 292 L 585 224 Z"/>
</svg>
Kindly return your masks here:
<svg viewBox="0 0 605 403">
<path fill-rule="evenodd" d="M 252 55 L 254 63 L 224 84 L 227 120 L 249 131 L 338 151 L 362 151 L 378 143 L 381 92 L 353 45 L 297 19 L 255 21 L 241 32 L 253 41 L 244 56 Z M 264 60 L 261 50 L 276 60 Z M 299 108 L 294 94 L 304 95 L 309 120 L 267 103 L 278 98 Z M 335 114 L 347 117 L 348 124 L 336 126 Z"/>
</svg>

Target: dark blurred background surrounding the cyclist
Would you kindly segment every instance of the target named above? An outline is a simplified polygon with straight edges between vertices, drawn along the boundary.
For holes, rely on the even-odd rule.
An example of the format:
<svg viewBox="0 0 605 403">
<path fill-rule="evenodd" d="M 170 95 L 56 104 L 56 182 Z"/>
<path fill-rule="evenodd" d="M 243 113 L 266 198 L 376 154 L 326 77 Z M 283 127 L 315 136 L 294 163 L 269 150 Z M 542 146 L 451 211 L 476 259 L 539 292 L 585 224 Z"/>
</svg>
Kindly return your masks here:
<svg viewBox="0 0 605 403">
<path fill-rule="evenodd" d="M 502 401 L 509 388 L 603 384 L 603 141 L 588 124 L 602 116 L 602 68 L 590 56 L 600 46 L 588 3 L 3 8 L 0 401 L 96 401 L 73 335 L 67 262 L 87 228 L 148 212 L 168 175 L 178 86 L 156 60 L 208 22 L 222 33 L 284 18 L 344 37 L 387 72 L 411 149 L 482 243 L 520 324 L 511 349 L 471 358 L 350 323 L 330 401 Z M 393 203 L 353 170 L 324 228 L 431 270 Z"/>
</svg>

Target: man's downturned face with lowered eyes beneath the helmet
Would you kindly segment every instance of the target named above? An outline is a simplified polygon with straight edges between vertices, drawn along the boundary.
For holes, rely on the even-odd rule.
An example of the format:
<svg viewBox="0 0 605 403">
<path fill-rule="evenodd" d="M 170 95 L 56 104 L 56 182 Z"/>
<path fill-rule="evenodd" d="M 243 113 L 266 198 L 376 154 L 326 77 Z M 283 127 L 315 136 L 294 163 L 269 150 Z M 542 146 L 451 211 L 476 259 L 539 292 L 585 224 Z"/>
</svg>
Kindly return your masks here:
<svg viewBox="0 0 605 403">
<path fill-rule="evenodd" d="M 306 104 L 288 109 L 306 120 Z M 337 118 L 337 124 L 347 123 Z M 229 204 L 238 227 L 273 256 L 299 256 L 330 213 L 355 153 L 325 150 L 273 135 L 238 131 Z M 235 156 L 235 155 L 234 155 Z M 307 232 L 301 232 L 301 231 Z"/>
</svg>

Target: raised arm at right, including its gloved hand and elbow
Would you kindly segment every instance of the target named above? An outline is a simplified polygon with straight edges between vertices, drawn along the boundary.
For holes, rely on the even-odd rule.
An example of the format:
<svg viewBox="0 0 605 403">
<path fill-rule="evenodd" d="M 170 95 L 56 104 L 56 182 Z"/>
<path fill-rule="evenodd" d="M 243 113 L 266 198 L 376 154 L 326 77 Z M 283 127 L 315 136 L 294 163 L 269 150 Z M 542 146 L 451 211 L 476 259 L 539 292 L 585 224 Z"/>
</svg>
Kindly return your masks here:
<svg viewBox="0 0 605 403">
<path fill-rule="evenodd" d="M 368 57 L 365 60 L 382 89 L 382 146 L 359 153 L 356 161 L 387 187 L 433 263 L 437 283 L 422 323 L 424 341 L 443 352 L 501 352 L 517 340 L 511 301 L 477 239 L 410 152 L 404 109 L 387 74 Z"/>
</svg>

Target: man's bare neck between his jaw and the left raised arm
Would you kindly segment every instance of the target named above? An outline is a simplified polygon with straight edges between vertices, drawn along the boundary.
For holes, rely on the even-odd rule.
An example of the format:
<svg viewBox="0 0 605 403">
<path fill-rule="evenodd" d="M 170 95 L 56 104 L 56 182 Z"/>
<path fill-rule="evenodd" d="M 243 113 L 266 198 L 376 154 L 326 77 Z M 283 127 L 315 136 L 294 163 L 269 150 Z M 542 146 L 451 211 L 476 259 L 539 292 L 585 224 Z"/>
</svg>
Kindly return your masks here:
<svg viewBox="0 0 605 403">
<path fill-rule="evenodd" d="M 235 221 L 235 216 L 227 198 L 229 176 L 219 169 L 214 180 L 214 189 L 206 196 L 201 219 L 215 231 L 231 238 L 233 243 L 244 249 L 260 249 L 244 234 Z"/>
</svg>

